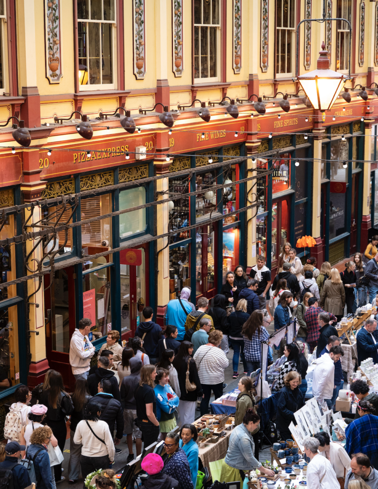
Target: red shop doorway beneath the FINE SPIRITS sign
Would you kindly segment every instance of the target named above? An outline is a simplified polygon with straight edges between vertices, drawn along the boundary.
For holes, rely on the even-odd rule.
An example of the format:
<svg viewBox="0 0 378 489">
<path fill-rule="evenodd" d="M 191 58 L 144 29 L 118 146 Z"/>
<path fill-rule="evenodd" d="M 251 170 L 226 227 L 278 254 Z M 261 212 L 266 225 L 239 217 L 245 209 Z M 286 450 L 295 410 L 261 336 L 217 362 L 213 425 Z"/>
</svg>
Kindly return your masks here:
<svg viewBox="0 0 378 489">
<path fill-rule="evenodd" d="M 290 201 L 284 197 L 272 205 L 272 280 L 277 273 L 278 256 L 290 236 Z M 293 246 L 294 243 L 291 243 Z"/>
</svg>

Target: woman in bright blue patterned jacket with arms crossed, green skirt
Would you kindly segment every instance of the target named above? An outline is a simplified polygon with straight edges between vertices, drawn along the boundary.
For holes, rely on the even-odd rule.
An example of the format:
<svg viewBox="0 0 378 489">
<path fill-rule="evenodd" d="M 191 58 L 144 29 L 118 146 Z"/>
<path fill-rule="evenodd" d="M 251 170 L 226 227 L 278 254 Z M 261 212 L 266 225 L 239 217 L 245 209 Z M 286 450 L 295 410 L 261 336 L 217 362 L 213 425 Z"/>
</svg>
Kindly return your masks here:
<svg viewBox="0 0 378 489">
<path fill-rule="evenodd" d="M 180 398 L 168 384 L 169 371 L 166 368 L 158 368 L 155 378 L 157 384 L 154 388 L 156 397 L 156 418 L 160 424 L 160 432 L 165 435 L 177 426 L 175 411 Z"/>
</svg>

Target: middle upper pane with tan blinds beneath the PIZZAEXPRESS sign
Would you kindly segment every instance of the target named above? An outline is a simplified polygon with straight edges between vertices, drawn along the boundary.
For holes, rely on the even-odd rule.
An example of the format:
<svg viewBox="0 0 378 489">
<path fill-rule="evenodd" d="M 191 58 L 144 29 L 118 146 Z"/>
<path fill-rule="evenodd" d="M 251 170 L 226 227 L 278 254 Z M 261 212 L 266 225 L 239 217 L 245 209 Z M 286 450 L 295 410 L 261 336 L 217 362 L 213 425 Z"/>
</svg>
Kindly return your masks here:
<svg viewBox="0 0 378 489">
<path fill-rule="evenodd" d="M 112 212 L 111 194 L 96 195 L 81 200 L 81 220 L 98 217 Z M 82 246 L 106 247 L 112 246 L 111 217 L 92 221 L 81 226 Z"/>
</svg>

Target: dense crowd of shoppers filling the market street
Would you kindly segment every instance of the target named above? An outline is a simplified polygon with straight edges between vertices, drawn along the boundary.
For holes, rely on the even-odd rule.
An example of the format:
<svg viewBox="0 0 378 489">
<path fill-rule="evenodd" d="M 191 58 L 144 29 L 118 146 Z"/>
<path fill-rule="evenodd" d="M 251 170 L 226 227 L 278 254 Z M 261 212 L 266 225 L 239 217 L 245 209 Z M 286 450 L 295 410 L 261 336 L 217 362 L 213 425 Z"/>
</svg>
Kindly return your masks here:
<svg viewBox="0 0 378 489">
<path fill-rule="evenodd" d="M 370 302 L 373 297 L 378 301 L 377 245 L 378 237 L 374 237 L 365 254 L 356 253 L 339 273 L 328 262 L 318 270 L 315 258 L 303 266 L 286 243 L 273 283 L 265 258 L 258 256 L 249 276 L 240 265 L 226 274 L 211 305 L 201 297 L 194 306 L 190 288 L 184 287 L 180 297 L 166 307 L 164 330 L 154 321 L 153 309 L 146 306 L 135 336 L 121 346 L 119 332 L 108 332 L 95 364 L 95 346 L 89 339 L 92 323 L 83 318 L 70 341 L 73 392 L 64 390 L 61 373 L 52 369 L 32 392 L 26 386 L 16 389 L 16 402 L 5 421 L 8 443 L 3 454 L 0 450 L 0 470 L 12 470 L 14 488 L 24 489 L 30 485 L 27 463 L 33 459 L 37 489 L 55 489 L 64 480 L 62 452 L 69 417 L 69 483 L 79 480 L 80 474 L 85 479 L 94 471 L 107 470 L 98 477 L 98 487 L 113 489 L 110 467 L 122 452 L 119 444 L 125 435 L 127 462 L 134 459 L 133 442 L 137 456 L 143 444 L 164 442 L 165 460 L 157 454 L 143 459 L 142 468 L 150 475 L 146 488 L 194 489 L 198 432 L 193 423 L 198 415 L 209 412 L 212 393 L 216 398 L 223 394 L 224 370 L 229 366 L 226 355 L 232 348 L 233 378 L 240 377 L 240 393 L 221 480 L 243 482 L 243 471 L 252 468 L 272 475 L 258 461 L 260 416 L 251 378 L 261 367 L 261 342 L 269 339 L 272 318 L 278 330 L 296 316 L 295 341 L 286 344 L 283 339 L 275 347 L 275 364 L 271 345 L 268 353 L 268 364 L 278 368 L 272 387 L 277 403 L 273 421 L 280 438 L 286 440 L 292 437 L 290 423 L 296 424 L 294 413 L 305 405 L 308 360 L 315 348 L 311 397 L 323 412 L 335 408 L 344 387 L 344 350 L 335 325 L 345 306 L 347 313 L 355 312 L 367 303 L 368 294 Z M 376 319 L 370 318 L 357 334 L 358 365 L 369 357 L 378 363 L 376 326 Z M 354 419 L 346 419 L 345 449 L 325 431 L 304 442 L 309 487 L 339 487 L 342 479 L 345 488 L 366 489 L 363 481 L 378 488 L 374 468 L 378 463 L 378 396 L 358 379 L 350 389 L 359 402 Z"/>
</svg>

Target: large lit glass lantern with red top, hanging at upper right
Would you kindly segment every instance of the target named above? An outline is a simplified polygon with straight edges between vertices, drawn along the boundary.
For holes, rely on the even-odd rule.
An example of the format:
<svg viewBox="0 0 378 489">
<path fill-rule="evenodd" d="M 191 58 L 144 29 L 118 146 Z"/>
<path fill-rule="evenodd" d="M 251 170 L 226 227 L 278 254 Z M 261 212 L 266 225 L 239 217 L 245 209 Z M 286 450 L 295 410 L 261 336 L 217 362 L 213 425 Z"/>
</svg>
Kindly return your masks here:
<svg viewBox="0 0 378 489">
<path fill-rule="evenodd" d="M 335 103 L 347 77 L 329 69 L 328 51 L 325 50 L 324 42 L 321 49 L 316 69 L 297 76 L 297 80 L 314 109 L 324 112 Z"/>
</svg>

